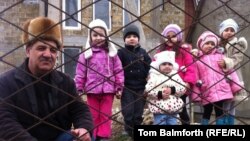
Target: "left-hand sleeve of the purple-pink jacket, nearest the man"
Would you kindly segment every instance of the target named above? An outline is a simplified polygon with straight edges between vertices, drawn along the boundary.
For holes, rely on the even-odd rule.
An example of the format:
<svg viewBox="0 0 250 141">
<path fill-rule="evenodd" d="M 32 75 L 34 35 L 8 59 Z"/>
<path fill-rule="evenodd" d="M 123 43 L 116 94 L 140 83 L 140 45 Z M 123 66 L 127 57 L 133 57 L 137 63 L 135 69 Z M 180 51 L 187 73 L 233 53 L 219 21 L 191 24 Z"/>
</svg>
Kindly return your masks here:
<svg viewBox="0 0 250 141">
<path fill-rule="evenodd" d="M 87 63 L 84 58 L 83 53 L 79 56 L 77 66 L 76 66 L 76 75 L 75 75 L 75 83 L 77 91 L 84 91 L 84 86 L 87 79 Z"/>
</svg>

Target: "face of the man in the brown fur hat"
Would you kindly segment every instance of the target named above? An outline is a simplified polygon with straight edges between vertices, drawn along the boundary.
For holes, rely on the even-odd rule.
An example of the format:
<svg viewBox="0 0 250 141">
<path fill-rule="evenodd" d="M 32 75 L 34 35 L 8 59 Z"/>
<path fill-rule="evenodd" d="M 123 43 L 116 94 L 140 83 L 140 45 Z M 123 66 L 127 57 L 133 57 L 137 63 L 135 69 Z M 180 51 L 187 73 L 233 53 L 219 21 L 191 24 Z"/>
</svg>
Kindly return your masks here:
<svg viewBox="0 0 250 141">
<path fill-rule="evenodd" d="M 57 57 L 56 43 L 53 41 L 37 41 L 26 48 L 29 58 L 28 67 L 32 74 L 43 75 L 52 70 Z"/>
</svg>

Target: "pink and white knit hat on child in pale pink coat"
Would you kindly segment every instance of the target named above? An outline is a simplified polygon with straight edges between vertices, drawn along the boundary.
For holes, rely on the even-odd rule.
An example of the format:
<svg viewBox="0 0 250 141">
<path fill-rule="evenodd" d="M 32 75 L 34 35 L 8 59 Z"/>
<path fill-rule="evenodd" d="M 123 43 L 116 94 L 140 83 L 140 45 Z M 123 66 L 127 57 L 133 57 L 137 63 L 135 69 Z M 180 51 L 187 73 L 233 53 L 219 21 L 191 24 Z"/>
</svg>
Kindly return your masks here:
<svg viewBox="0 0 250 141">
<path fill-rule="evenodd" d="M 203 32 L 197 40 L 197 47 L 201 49 L 206 42 L 212 41 L 215 46 L 218 46 L 219 38 L 211 31 Z"/>
</svg>

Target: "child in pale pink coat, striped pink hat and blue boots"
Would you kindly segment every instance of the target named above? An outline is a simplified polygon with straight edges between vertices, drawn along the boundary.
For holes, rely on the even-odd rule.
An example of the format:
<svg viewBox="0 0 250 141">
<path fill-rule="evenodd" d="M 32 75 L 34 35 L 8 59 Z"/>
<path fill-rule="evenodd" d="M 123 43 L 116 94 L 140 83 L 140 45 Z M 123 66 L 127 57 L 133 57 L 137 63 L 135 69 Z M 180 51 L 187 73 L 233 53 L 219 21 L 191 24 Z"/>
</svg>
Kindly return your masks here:
<svg viewBox="0 0 250 141">
<path fill-rule="evenodd" d="M 198 80 L 201 83 L 194 87 L 199 87 L 197 90 L 200 92 L 196 91 L 195 93 L 200 94 L 201 104 L 204 108 L 203 119 L 201 121 L 202 125 L 209 123 L 213 108 L 215 109 L 216 125 L 223 125 L 223 102 L 232 99 L 232 91 L 237 91 L 232 90 L 230 83 L 225 79 L 226 69 L 220 68 L 217 64 L 219 60 L 225 58 L 223 54 L 218 53 L 216 50 L 218 40 L 215 34 L 206 31 L 200 35 L 197 41 L 197 47 L 201 52 L 199 52 L 196 67 Z M 237 82 L 236 79 L 233 81 Z M 241 89 L 241 87 L 238 87 L 238 90 L 239 89 Z"/>
</svg>

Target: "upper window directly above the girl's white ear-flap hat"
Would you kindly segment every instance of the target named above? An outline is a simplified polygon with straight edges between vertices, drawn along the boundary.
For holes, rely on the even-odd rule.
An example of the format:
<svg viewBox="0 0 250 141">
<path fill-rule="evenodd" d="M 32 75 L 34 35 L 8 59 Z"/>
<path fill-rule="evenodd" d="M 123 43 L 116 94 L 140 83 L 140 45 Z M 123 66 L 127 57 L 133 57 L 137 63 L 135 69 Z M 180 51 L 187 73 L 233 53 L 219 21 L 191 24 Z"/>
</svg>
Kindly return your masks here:
<svg viewBox="0 0 250 141">
<path fill-rule="evenodd" d="M 95 1 L 96 0 L 93 0 L 93 2 Z M 109 30 L 111 30 L 110 8 L 111 8 L 111 3 L 108 0 L 101 0 L 94 3 L 94 8 L 93 8 L 93 18 L 103 20 L 107 24 Z"/>
</svg>

